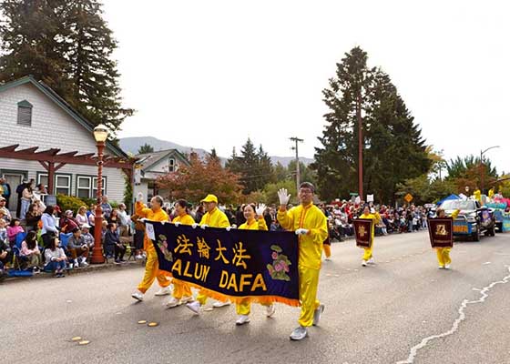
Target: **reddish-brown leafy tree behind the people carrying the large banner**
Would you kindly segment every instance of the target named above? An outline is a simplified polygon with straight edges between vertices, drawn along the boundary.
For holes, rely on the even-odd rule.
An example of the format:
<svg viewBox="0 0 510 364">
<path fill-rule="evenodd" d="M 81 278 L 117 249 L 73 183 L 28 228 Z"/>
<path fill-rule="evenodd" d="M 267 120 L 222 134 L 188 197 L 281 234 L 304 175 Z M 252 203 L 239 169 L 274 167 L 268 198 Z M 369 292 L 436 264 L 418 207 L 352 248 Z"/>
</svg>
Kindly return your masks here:
<svg viewBox="0 0 510 364">
<path fill-rule="evenodd" d="M 216 195 L 220 203 L 237 203 L 242 190 L 238 175 L 221 167 L 218 159 L 208 156 L 202 160 L 196 153 L 189 155 L 189 166 L 158 177 L 157 183 L 161 189 L 170 191 L 169 199 L 185 198 L 192 203 L 208 194 Z"/>
</svg>

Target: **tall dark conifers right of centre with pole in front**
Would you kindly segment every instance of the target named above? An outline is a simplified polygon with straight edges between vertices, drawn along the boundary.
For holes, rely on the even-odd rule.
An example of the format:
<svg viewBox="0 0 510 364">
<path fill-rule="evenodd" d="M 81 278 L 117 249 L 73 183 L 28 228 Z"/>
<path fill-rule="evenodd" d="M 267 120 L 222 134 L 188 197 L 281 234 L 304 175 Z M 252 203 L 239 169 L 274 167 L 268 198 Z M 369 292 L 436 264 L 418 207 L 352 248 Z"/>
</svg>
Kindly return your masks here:
<svg viewBox="0 0 510 364">
<path fill-rule="evenodd" d="M 336 77 L 322 91 L 330 111 L 319 137 L 315 162 L 321 197 L 345 197 L 358 190 L 358 113 L 362 114 L 363 191 L 379 202 L 393 202 L 396 186 L 427 172 L 421 130 L 388 75 L 367 66 L 355 47 L 337 64 Z"/>
</svg>

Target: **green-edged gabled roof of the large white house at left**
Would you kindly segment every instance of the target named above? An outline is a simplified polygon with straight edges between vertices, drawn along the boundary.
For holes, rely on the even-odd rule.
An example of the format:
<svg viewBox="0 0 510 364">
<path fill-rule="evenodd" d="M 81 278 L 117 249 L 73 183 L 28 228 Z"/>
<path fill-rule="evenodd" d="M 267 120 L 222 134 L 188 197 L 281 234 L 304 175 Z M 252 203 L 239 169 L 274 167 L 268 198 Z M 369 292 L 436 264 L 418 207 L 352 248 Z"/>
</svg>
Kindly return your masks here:
<svg viewBox="0 0 510 364">
<path fill-rule="evenodd" d="M 18 78 L 15 81 L 7 82 L 4 85 L 0 85 L 0 92 L 4 92 L 10 88 L 21 86 L 25 84 L 31 84 L 36 86 L 36 88 L 49 97 L 57 106 L 59 106 L 64 112 L 71 116 L 79 125 L 85 127 L 87 131 L 91 134 L 94 133 L 94 125 L 92 125 L 84 116 L 81 116 L 76 109 L 67 104 L 66 100 L 62 97 L 58 96 L 54 90 L 52 90 L 49 86 L 45 85 L 42 81 L 37 81 L 34 76 L 25 76 Z M 111 150 L 117 157 L 125 157 L 128 158 L 128 155 L 122 151 L 115 144 L 111 143 L 107 140 L 107 148 Z"/>
</svg>

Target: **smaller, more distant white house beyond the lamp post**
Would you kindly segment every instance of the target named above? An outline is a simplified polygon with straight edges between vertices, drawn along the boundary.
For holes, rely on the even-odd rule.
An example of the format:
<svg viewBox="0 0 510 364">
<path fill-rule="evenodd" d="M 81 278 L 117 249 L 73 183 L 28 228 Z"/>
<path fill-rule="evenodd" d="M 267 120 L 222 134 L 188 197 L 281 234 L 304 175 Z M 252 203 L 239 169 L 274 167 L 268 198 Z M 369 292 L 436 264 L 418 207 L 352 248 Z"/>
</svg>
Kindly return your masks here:
<svg viewBox="0 0 510 364">
<path fill-rule="evenodd" d="M 139 154 L 135 166 L 134 196 L 142 192 L 144 197 L 150 199 L 161 195 L 168 197 L 167 190 L 158 189 L 156 180 L 168 172 L 175 172 L 180 166 L 189 166 L 189 160 L 177 149 L 159 150 L 158 152 Z"/>
</svg>

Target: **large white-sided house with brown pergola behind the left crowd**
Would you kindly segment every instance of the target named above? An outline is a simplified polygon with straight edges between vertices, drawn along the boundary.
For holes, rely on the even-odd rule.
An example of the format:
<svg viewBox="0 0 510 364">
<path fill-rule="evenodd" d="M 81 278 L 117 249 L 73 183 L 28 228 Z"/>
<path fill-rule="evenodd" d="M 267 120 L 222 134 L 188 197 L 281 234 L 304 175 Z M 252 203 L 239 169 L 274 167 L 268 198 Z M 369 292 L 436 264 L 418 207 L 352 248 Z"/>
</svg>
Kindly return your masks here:
<svg viewBox="0 0 510 364">
<path fill-rule="evenodd" d="M 53 189 L 50 194 L 96 197 L 94 126 L 51 88 L 32 76 L 0 85 L 0 126 L 0 176 L 13 190 L 34 178 Z M 133 160 L 108 141 L 104 154 L 103 192 L 121 202 Z M 13 192 L 11 210 L 17 204 Z"/>
</svg>

